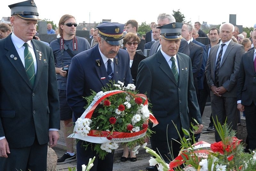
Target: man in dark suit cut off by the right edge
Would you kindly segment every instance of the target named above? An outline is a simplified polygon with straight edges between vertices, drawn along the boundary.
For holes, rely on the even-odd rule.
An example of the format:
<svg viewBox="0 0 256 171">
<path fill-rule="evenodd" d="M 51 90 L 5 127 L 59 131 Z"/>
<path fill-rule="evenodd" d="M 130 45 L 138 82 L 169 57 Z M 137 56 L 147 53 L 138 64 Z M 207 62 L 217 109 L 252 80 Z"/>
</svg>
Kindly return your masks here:
<svg viewBox="0 0 256 171">
<path fill-rule="evenodd" d="M 244 53 L 240 63 L 237 79 L 237 109 L 244 111 L 246 118 L 248 147 L 256 149 L 256 29 L 252 32 L 254 49 Z"/>
</svg>

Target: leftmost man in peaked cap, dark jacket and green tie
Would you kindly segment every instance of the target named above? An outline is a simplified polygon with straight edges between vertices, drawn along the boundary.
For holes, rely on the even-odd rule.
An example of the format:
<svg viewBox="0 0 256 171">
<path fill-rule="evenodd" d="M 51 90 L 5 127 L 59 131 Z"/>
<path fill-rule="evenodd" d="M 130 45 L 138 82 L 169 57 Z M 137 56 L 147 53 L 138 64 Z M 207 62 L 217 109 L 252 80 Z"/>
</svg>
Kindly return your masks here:
<svg viewBox="0 0 256 171">
<path fill-rule="evenodd" d="M 0 40 L 0 170 L 44 171 L 47 143 L 56 146 L 60 129 L 52 49 L 32 39 L 34 1 L 9 7 L 13 32 Z"/>
</svg>

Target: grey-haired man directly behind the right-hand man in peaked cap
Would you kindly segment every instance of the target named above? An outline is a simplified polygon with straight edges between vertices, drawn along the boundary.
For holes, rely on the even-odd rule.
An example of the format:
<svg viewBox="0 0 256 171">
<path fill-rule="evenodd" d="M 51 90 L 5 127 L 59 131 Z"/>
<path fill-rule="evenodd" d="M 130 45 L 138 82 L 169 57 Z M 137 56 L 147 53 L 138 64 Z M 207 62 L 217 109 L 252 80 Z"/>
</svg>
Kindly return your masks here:
<svg viewBox="0 0 256 171">
<path fill-rule="evenodd" d="M 159 16 L 157 17 L 158 26 L 170 24 L 173 22 L 176 22 L 176 20 L 172 15 L 169 15 L 169 14 L 162 13 L 162 14 L 159 14 Z M 151 49 L 149 51 L 149 56 L 152 56 L 153 54 L 155 54 L 160 48 L 161 48 L 161 45 L 159 43 L 159 40 L 157 40 L 151 46 Z M 180 41 L 179 52 L 184 53 L 189 56 L 189 47 L 188 47 L 188 43 L 185 39 L 181 39 L 181 41 Z"/>
</svg>

